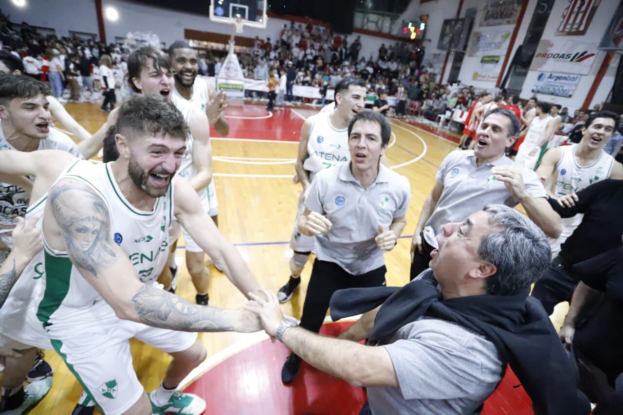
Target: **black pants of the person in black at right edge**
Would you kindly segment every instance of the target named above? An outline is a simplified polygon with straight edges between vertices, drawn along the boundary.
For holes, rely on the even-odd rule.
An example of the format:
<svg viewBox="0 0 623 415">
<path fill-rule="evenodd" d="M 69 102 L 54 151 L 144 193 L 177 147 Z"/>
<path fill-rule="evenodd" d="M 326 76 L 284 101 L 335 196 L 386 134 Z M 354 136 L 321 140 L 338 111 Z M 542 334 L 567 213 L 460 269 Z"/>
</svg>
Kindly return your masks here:
<svg viewBox="0 0 623 415">
<path fill-rule="evenodd" d="M 571 272 L 571 264 L 558 256 L 551 261 L 543 277 L 535 283 L 530 295 L 539 300 L 548 315 L 551 315 L 556 304 L 563 301 L 571 302 L 578 281 L 579 279 Z"/>
</svg>

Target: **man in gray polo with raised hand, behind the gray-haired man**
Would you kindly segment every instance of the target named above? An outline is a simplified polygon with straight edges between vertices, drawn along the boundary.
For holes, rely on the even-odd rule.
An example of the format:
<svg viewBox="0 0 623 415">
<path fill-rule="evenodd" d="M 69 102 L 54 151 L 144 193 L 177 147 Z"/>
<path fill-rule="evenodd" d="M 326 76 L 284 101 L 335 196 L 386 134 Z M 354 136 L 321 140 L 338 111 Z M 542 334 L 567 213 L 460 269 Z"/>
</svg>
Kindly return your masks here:
<svg viewBox="0 0 623 415">
<path fill-rule="evenodd" d="M 521 203 L 547 236 L 559 236 L 560 217 L 549 206 L 536 173 L 504 154 L 515 143 L 519 128 L 514 113 L 495 108 L 478 126 L 474 150 L 453 151 L 442 161 L 413 234 L 411 279 L 429 267 L 430 252 L 437 248 L 436 237 L 444 224 L 462 222 L 487 204 Z"/>
</svg>

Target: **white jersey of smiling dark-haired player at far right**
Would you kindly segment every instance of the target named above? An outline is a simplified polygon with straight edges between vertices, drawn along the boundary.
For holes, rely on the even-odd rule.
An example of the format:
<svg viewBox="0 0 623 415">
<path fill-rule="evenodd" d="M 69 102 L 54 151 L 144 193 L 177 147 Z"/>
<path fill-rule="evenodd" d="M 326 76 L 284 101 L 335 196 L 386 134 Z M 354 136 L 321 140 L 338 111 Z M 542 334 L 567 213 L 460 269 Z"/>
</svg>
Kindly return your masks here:
<svg viewBox="0 0 623 415">
<path fill-rule="evenodd" d="M 580 166 L 576 161 L 574 153 L 576 146 L 577 144 L 561 147 L 563 154 L 555 169 L 558 173 L 556 186 L 554 187 L 556 196 L 578 193 L 591 184 L 607 179 L 610 176 L 610 171 L 614 164 L 614 158 L 611 155 L 601 151 L 599 157 L 592 165 Z M 573 234 L 573 231 L 582 222 L 583 217 L 584 214 L 579 213 L 576 216 L 561 219 L 562 232 L 560 236 L 556 239 L 548 238 L 549 246 L 551 246 L 554 256 L 560 252 L 561 244 Z"/>
</svg>

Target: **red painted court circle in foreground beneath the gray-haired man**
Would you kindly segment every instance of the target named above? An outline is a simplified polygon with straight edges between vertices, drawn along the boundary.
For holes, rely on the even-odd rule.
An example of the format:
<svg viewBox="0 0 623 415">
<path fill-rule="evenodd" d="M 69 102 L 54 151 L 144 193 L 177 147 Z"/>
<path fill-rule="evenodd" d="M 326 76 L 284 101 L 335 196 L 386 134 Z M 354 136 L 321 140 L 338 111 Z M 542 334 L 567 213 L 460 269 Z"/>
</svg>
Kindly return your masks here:
<svg viewBox="0 0 623 415">
<path fill-rule="evenodd" d="M 327 323 L 321 333 L 337 336 L 352 322 Z M 264 340 L 214 366 L 186 392 L 206 399 L 206 414 L 332 414 L 356 415 L 366 401 L 361 388 L 353 388 L 303 362 L 291 385 L 281 381 L 288 350 Z M 508 368 L 506 376 L 485 403 L 485 415 L 532 414 L 530 398 Z"/>
</svg>

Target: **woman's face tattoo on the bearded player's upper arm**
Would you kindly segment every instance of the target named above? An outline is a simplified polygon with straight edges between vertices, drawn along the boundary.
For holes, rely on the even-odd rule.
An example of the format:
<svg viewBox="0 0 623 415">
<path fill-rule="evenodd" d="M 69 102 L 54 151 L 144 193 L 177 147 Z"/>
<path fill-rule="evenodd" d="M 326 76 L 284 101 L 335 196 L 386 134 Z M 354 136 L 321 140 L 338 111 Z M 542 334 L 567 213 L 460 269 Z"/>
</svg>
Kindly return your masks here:
<svg viewBox="0 0 623 415">
<path fill-rule="evenodd" d="M 60 183 L 51 189 L 50 202 L 74 265 L 97 277 L 100 270 L 117 260 L 108 207 L 93 189 L 85 184 Z"/>
</svg>

